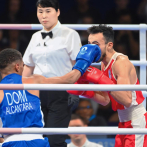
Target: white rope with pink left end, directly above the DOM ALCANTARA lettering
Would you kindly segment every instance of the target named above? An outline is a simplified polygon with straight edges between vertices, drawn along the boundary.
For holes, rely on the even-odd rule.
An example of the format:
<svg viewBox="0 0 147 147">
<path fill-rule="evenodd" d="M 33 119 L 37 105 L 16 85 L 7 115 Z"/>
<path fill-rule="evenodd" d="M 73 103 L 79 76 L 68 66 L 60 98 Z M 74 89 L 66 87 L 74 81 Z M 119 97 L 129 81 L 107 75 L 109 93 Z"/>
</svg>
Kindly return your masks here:
<svg viewBox="0 0 147 147">
<path fill-rule="evenodd" d="M 0 84 L 0 90 L 146 91 L 147 85 L 109 84 Z"/>
</svg>

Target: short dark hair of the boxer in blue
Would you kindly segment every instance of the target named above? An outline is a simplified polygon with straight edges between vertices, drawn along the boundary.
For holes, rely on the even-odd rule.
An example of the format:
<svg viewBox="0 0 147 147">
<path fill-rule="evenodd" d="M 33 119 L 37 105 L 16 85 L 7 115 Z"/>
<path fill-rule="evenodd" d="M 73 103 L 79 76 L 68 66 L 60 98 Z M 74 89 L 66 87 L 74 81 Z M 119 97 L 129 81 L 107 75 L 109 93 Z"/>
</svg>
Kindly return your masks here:
<svg viewBox="0 0 147 147">
<path fill-rule="evenodd" d="M 0 52 L 0 70 L 18 60 L 22 60 L 22 55 L 18 50 L 9 48 L 2 50 Z"/>
</svg>

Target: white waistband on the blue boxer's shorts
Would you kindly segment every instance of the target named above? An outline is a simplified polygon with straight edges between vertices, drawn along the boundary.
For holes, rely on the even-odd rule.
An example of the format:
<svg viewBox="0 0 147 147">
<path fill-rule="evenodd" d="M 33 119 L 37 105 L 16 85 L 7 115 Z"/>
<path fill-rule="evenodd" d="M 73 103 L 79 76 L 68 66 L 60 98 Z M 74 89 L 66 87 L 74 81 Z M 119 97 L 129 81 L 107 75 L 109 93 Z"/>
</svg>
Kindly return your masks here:
<svg viewBox="0 0 147 147">
<path fill-rule="evenodd" d="M 44 139 L 42 134 L 13 134 L 4 135 L 4 142 L 10 141 L 30 141 L 34 139 Z"/>
</svg>

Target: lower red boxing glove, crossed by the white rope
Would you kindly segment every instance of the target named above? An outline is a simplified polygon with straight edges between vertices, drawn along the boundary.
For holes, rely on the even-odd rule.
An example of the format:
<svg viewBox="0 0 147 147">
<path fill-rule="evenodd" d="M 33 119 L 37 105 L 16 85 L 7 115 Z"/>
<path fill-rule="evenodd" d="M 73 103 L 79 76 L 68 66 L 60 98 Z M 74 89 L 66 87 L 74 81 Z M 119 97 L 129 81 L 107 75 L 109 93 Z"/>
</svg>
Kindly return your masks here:
<svg viewBox="0 0 147 147">
<path fill-rule="evenodd" d="M 85 79 L 80 78 L 75 84 L 89 84 L 89 82 Z M 81 95 L 86 98 L 92 98 L 94 97 L 93 91 L 75 91 L 75 90 L 67 90 L 68 93 L 74 94 L 74 95 Z"/>
</svg>

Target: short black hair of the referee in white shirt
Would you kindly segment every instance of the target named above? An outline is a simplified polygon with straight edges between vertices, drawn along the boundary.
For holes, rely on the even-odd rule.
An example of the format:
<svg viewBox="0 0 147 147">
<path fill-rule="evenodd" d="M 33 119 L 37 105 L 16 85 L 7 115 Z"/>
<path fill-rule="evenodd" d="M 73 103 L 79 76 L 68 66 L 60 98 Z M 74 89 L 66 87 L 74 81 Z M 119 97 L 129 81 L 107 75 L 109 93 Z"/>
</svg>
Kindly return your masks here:
<svg viewBox="0 0 147 147">
<path fill-rule="evenodd" d="M 45 7 L 52 7 L 56 11 L 59 9 L 59 2 L 58 0 L 38 0 L 36 3 L 37 7 L 45 8 Z"/>
</svg>

